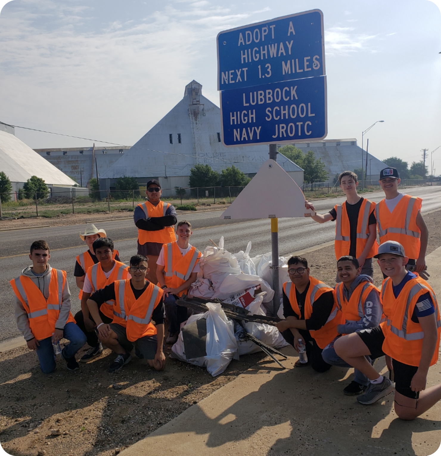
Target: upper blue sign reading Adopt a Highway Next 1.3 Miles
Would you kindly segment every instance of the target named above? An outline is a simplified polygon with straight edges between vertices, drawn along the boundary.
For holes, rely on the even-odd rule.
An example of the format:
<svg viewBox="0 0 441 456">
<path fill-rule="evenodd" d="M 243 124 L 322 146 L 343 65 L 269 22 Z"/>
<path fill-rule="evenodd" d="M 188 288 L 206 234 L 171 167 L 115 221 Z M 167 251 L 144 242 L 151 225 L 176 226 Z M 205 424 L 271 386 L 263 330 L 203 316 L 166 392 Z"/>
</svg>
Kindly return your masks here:
<svg viewBox="0 0 441 456">
<path fill-rule="evenodd" d="M 323 13 L 310 10 L 221 31 L 218 90 L 323 76 Z"/>
</svg>

